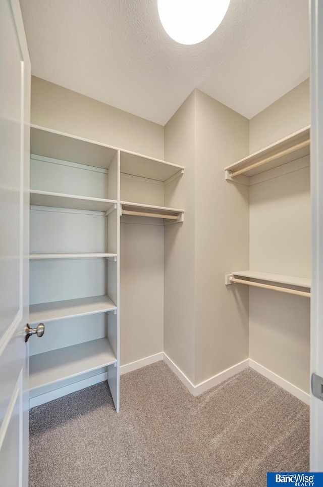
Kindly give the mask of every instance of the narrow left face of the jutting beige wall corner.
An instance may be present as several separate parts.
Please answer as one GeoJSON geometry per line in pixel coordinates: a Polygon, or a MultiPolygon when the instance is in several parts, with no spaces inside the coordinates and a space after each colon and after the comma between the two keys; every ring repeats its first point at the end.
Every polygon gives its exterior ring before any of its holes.
{"type": "Polygon", "coordinates": [[[185,166],[165,186],[165,204],[185,209],[185,221],[165,227],[164,351],[194,382],[195,370],[195,96],[165,126],[165,159],[185,166]]]}

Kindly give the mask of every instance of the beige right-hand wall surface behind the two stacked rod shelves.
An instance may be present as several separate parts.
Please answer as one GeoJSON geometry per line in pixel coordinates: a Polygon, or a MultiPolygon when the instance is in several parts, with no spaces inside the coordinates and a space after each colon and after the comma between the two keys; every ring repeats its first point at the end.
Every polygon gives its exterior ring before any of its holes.
{"type": "MultiPolygon", "coordinates": [[[[250,153],[309,125],[308,80],[250,120],[250,153]]],[[[250,269],[310,277],[309,168],[250,186],[250,269]]],[[[309,300],[250,289],[250,358],[309,392],[309,300]]]]}

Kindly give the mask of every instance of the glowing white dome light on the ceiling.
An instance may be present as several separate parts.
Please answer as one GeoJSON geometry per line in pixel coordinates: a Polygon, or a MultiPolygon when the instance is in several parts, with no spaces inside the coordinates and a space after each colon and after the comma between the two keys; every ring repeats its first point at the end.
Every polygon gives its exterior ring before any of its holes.
{"type": "Polygon", "coordinates": [[[216,30],[230,0],[157,0],[161,24],[180,44],[197,44],[216,30]]]}

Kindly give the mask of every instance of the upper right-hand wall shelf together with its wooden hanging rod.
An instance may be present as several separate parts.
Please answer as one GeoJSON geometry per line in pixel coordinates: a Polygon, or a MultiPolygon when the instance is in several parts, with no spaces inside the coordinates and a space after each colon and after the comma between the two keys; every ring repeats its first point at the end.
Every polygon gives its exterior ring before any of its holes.
{"type": "Polygon", "coordinates": [[[227,166],[227,179],[235,180],[239,175],[252,177],[288,162],[309,155],[310,127],[306,127],[265,149],[255,152],[240,161],[227,166]],[[254,167],[255,165],[256,167],[254,167]]]}

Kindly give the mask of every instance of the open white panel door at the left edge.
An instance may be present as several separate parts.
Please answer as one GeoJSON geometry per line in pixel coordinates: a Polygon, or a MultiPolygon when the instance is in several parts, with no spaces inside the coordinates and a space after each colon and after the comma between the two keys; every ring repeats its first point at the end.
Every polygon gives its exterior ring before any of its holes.
{"type": "Polygon", "coordinates": [[[28,485],[30,61],[19,0],[0,0],[0,484],[28,485]]]}

